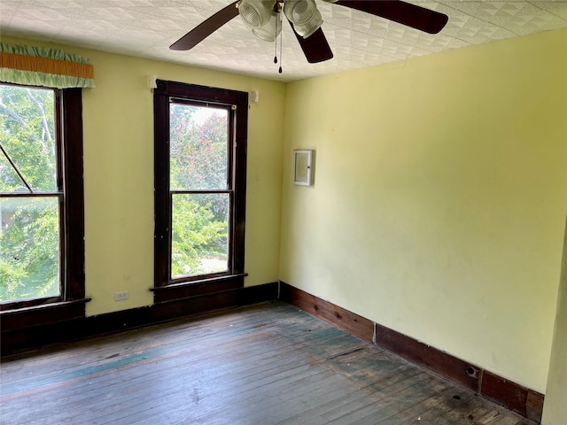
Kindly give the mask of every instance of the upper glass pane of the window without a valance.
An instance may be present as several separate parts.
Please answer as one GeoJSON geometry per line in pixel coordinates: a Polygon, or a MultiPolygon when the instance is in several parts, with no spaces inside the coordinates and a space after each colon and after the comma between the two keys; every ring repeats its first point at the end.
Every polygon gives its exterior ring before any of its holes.
{"type": "Polygon", "coordinates": [[[227,189],[226,109],[170,105],[171,189],[227,189]]]}

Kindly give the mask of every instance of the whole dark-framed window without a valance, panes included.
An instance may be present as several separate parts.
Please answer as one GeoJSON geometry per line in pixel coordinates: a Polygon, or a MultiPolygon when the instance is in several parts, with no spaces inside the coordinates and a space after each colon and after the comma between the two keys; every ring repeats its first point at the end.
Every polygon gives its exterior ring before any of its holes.
{"type": "Polygon", "coordinates": [[[157,86],[156,296],[181,284],[242,286],[248,95],[172,81],[157,86]]]}

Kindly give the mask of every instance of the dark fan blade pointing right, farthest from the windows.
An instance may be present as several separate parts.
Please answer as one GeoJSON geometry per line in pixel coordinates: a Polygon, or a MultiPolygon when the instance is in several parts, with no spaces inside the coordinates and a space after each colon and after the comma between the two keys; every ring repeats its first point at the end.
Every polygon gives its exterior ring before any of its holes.
{"type": "Polygon", "coordinates": [[[390,19],[429,34],[439,33],[449,19],[444,13],[400,0],[338,0],[335,4],[390,19]]]}

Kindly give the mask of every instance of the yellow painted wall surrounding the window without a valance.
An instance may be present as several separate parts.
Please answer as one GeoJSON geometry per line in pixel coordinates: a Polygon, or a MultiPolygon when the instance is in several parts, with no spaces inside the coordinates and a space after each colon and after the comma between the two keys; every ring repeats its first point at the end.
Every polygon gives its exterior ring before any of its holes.
{"type": "Polygon", "coordinates": [[[83,90],[85,274],[86,292],[92,297],[87,314],[152,303],[153,103],[146,85],[148,74],[162,80],[260,91],[260,103],[251,104],[248,115],[245,271],[249,276],[245,285],[277,281],[285,85],[56,47],[90,58],[96,74],[97,87],[83,90]],[[129,299],[114,301],[116,291],[128,291],[129,299]]]}

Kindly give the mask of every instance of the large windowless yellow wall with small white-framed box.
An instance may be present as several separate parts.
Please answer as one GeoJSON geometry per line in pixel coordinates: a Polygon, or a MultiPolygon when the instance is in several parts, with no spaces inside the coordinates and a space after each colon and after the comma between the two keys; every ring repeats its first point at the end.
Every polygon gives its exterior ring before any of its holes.
{"type": "Polygon", "coordinates": [[[289,84],[281,280],[545,392],[566,51],[555,31],[289,84]]]}

